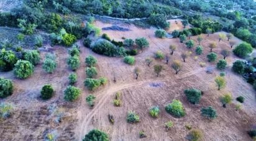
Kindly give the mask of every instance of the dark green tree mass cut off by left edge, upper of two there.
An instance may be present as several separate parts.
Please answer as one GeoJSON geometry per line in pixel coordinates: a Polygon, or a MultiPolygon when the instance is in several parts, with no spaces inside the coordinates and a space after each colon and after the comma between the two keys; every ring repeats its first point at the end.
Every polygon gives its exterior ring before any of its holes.
{"type": "Polygon", "coordinates": [[[0,53],[0,71],[12,70],[17,60],[16,55],[11,50],[6,51],[3,48],[0,53]]]}

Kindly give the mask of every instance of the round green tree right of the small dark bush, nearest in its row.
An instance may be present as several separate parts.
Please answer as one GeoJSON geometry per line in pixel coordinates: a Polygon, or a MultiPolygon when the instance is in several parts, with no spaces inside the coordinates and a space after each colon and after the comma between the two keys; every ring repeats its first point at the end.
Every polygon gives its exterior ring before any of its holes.
{"type": "Polygon", "coordinates": [[[68,86],[64,91],[66,101],[75,101],[81,94],[81,90],[75,86],[68,86]]]}

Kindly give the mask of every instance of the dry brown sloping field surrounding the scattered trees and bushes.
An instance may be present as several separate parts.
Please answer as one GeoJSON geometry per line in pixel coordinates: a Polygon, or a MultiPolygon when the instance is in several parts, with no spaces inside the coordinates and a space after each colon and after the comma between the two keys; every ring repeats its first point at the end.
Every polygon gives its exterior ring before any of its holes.
{"type": "MultiPolygon", "coordinates": [[[[175,24],[173,20],[171,23],[175,24]]],[[[168,31],[182,29],[180,21],[177,25],[171,24],[168,31]]],[[[97,27],[109,27],[112,24],[106,24],[96,21],[97,27]]],[[[191,125],[193,129],[203,130],[203,140],[250,140],[246,130],[256,121],[256,102],[255,91],[250,84],[246,83],[241,76],[235,75],[231,71],[232,62],[239,58],[231,55],[227,57],[229,67],[225,70],[227,86],[221,91],[217,90],[214,77],[219,75],[221,71],[214,66],[216,62],[209,63],[206,55],[210,52],[208,47],[210,42],[217,42],[217,48],[213,52],[217,53],[218,60],[222,58],[220,52],[223,48],[231,50],[227,40],[218,42],[218,33],[211,34],[209,37],[203,35],[204,40],[201,45],[204,47],[202,55],[194,53],[195,47],[186,48],[179,39],[158,39],[155,37],[155,28],[140,29],[134,25],[118,24],[121,27],[127,27],[130,31],[120,32],[114,30],[103,30],[114,40],[136,39],[137,37],[145,37],[149,40],[150,47],[146,48],[139,55],[135,56],[135,65],[129,66],[123,62],[122,58],[104,57],[93,53],[83,46],[82,41],[78,41],[80,45],[80,68],[76,70],[78,74],[78,86],[81,90],[81,96],[78,101],[65,102],[63,99],[63,91],[68,86],[68,74],[71,70],[66,65],[68,58],[68,50],[65,47],[53,47],[53,51],[57,55],[58,67],[53,74],[47,74],[42,70],[42,62],[35,67],[34,75],[26,80],[18,80],[14,78],[13,72],[0,73],[0,76],[14,81],[14,94],[1,101],[11,102],[15,105],[13,116],[5,121],[0,121],[0,140],[42,140],[47,130],[55,129],[58,132],[58,140],[82,140],[84,135],[91,129],[104,130],[111,140],[139,140],[139,132],[144,130],[147,138],[142,140],[186,140],[186,136],[190,130],[185,125],[191,125]],[[176,45],[178,48],[173,55],[170,55],[168,65],[165,61],[154,60],[152,66],[147,66],[145,58],[153,57],[157,50],[170,54],[169,46],[176,45]],[[183,68],[175,75],[175,71],[170,67],[173,60],[181,60],[181,53],[191,51],[191,57],[182,62],[183,68]],[[108,83],[106,86],[100,87],[95,91],[88,91],[83,85],[86,78],[85,75],[85,58],[94,55],[98,59],[98,76],[106,76],[108,83]],[[198,56],[198,59],[194,57],[198,56]],[[199,62],[205,62],[206,66],[201,67],[199,62]],[[164,70],[157,77],[153,71],[153,65],[161,64],[164,70]],[[134,68],[140,68],[139,79],[135,80],[134,68]],[[206,73],[208,67],[214,68],[212,74],[206,73]],[[114,83],[114,75],[117,82],[114,83]],[[44,84],[52,84],[55,89],[55,95],[49,101],[42,101],[40,89],[44,84]],[[185,94],[186,88],[201,89],[204,94],[201,101],[197,105],[190,104],[185,94]],[[122,106],[114,107],[112,101],[117,92],[121,92],[122,106]],[[219,97],[222,94],[232,93],[234,100],[232,104],[226,108],[222,107],[219,97]],[[88,94],[96,96],[96,104],[90,109],[85,102],[88,94]],[[235,98],[244,96],[245,102],[242,109],[235,111],[235,98]],[[186,116],[180,119],[175,118],[165,111],[165,106],[179,99],[185,106],[186,116]],[[50,113],[47,107],[56,103],[58,107],[63,109],[65,117],[59,124],[54,122],[55,116],[50,113]],[[160,107],[160,116],[153,119],[149,115],[149,109],[152,106],[160,107]],[[217,110],[218,117],[209,121],[201,116],[200,109],[205,106],[213,106],[217,110]],[[126,115],[129,111],[135,111],[140,116],[140,122],[137,124],[128,124],[126,115]],[[115,123],[112,125],[107,117],[112,114],[115,117],[115,123]],[[165,130],[164,123],[173,121],[174,126],[170,130],[165,130]]],[[[197,37],[191,37],[195,40],[197,37]]],[[[240,42],[238,39],[237,43],[240,42]]],[[[197,45],[198,43],[196,43],[197,45]]],[[[41,53],[42,60],[45,52],[41,53]]],[[[42,61],[41,60],[41,61],[42,61]]]]}

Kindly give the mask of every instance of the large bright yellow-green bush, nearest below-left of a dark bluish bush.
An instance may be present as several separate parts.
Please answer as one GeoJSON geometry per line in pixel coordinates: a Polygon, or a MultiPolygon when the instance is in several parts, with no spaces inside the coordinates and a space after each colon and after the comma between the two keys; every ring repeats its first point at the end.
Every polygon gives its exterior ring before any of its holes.
{"type": "Polygon", "coordinates": [[[185,109],[183,107],[183,104],[179,101],[179,100],[176,100],[176,99],[173,99],[173,102],[171,102],[170,104],[168,104],[166,107],[165,107],[165,110],[175,116],[175,117],[183,117],[185,116],[185,109]]]}

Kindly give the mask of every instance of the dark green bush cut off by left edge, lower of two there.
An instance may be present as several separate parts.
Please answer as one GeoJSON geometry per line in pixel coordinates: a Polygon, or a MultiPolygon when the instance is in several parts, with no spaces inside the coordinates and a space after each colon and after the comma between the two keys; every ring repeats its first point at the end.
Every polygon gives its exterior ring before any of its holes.
{"type": "Polygon", "coordinates": [[[0,98],[11,96],[13,92],[13,84],[11,80],[0,78],[0,98]]]}

